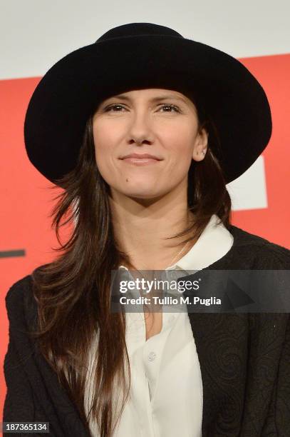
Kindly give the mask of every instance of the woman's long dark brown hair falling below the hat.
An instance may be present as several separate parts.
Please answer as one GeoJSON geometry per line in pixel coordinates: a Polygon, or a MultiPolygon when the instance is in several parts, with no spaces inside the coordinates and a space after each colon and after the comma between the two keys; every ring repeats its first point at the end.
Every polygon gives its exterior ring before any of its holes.
{"type": "MultiPolygon", "coordinates": [[[[209,144],[204,160],[192,161],[188,174],[188,209],[194,223],[170,238],[198,238],[212,214],[229,228],[231,200],[214,151],[220,147],[214,122],[197,108],[199,129],[207,130],[209,144]]],[[[125,343],[125,313],[110,309],[111,271],[130,258],[114,238],[108,200],[110,187],[95,163],[93,114],[88,119],[76,168],[57,181],[63,188],[51,213],[59,247],[55,260],[32,273],[38,304],[38,330],[33,338],[43,357],[56,371],[58,381],[76,405],[89,431],[84,407],[89,351],[93,338],[95,366],[92,418],[101,437],[113,435],[115,381],[123,387],[123,411],[130,390],[130,364],[125,343]],[[71,223],[73,231],[61,243],[60,228],[71,223]],[[127,369],[127,370],[126,370],[127,369]]],[[[53,186],[56,188],[56,186],[53,186]]]]}

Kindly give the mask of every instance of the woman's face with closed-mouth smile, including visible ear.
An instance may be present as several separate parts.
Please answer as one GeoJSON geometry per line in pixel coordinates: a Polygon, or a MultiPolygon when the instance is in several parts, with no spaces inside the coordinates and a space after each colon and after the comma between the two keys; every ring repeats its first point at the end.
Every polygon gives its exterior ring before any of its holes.
{"type": "Polygon", "coordinates": [[[197,132],[197,111],[185,95],[138,89],[105,99],[93,116],[95,161],[113,191],[149,199],[184,184],[192,159],[201,161],[207,134],[197,132]],[[150,154],[141,163],[124,159],[150,154]]]}

